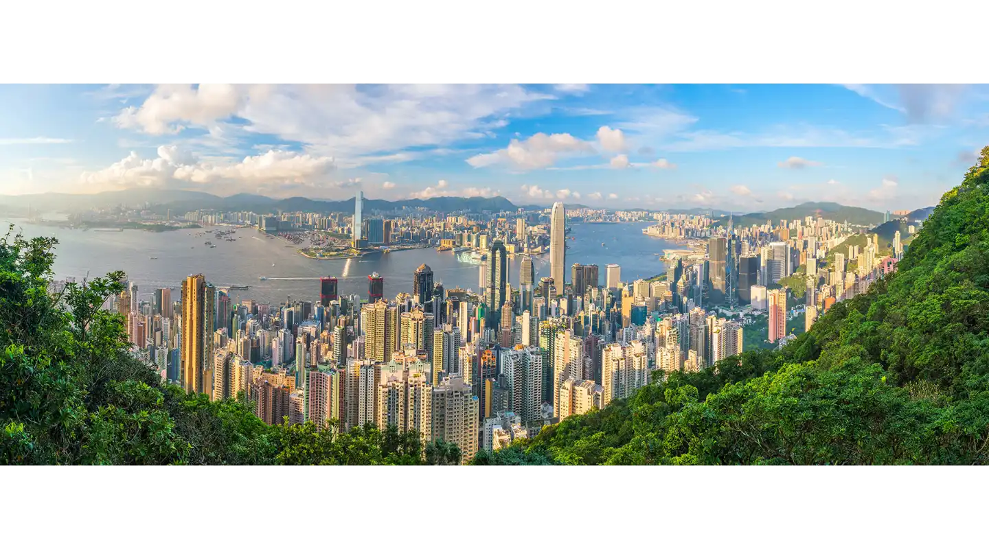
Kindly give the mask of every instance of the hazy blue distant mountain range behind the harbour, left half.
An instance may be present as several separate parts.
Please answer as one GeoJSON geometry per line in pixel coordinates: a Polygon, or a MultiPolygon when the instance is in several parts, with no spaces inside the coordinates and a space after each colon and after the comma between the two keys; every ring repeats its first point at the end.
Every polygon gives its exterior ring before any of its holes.
{"type": "MultiPolygon", "coordinates": [[[[195,191],[167,191],[160,189],[129,189],[126,191],[111,191],[95,195],[68,195],[64,193],[45,193],[43,195],[2,196],[2,202],[8,208],[27,208],[29,205],[37,211],[75,211],[92,207],[110,207],[125,204],[129,206],[150,203],[151,209],[161,211],[170,209],[173,214],[181,214],[194,209],[219,210],[249,210],[258,213],[278,211],[312,211],[315,213],[330,213],[334,211],[347,212],[354,210],[354,198],[346,200],[318,200],[295,196],[292,198],[271,198],[249,194],[233,196],[215,196],[195,191]]],[[[502,211],[516,209],[518,206],[503,196],[485,198],[473,196],[435,196],[426,199],[407,200],[364,200],[364,210],[393,210],[402,208],[425,207],[436,211],[502,211]]]]}

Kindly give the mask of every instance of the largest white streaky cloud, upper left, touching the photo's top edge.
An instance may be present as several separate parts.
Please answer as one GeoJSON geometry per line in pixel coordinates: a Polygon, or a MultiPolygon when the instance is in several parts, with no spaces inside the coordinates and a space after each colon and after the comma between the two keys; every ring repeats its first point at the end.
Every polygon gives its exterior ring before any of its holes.
{"type": "Polygon", "coordinates": [[[243,118],[245,131],[297,141],[341,163],[368,163],[483,137],[516,110],[549,99],[517,84],[162,84],[115,121],[162,134],[243,118]]]}

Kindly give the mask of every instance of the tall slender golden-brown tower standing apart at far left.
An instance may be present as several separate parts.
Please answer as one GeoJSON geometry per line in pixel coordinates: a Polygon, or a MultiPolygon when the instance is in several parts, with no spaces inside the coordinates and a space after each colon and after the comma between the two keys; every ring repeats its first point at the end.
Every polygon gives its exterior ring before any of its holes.
{"type": "Polygon", "coordinates": [[[203,274],[182,283],[182,387],[187,393],[213,393],[213,319],[216,288],[203,274]]]}

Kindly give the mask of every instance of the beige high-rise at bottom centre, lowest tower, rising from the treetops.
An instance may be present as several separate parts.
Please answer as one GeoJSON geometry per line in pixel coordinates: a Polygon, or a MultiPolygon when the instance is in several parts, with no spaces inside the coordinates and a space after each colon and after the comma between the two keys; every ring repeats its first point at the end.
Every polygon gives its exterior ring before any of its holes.
{"type": "Polygon", "coordinates": [[[479,407],[471,385],[459,375],[447,377],[432,388],[431,438],[457,444],[463,465],[478,451],[479,407]]]}

